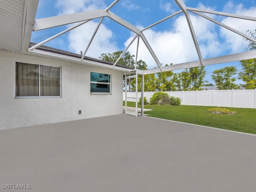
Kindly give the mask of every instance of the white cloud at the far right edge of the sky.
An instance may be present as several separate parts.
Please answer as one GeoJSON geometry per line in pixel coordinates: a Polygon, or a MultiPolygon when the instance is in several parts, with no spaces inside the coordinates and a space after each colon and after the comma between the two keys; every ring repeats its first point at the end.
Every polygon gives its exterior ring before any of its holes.
{"type": "MultiPolygon", "coordinates": [[[[224,12],[256,17],[256,7],[250,7],[249,9],[246,9],[242,4],[234,5],[232,2],[228,2],[225,5],[224,12]]],[[[256,24],[255,21],[230,17],[224,18],[221,22],[244,34],[246,34],[246,30],[254,30],[256,24]]],[[[221,27],[220,34],[223,38],[226,39],[227,47],[232,50],[232,53],[242,52],[244,51],[244,48],[248,46],[248,42],[246,42],[242,36],[235,34],[230,30],[221,27]]]]}

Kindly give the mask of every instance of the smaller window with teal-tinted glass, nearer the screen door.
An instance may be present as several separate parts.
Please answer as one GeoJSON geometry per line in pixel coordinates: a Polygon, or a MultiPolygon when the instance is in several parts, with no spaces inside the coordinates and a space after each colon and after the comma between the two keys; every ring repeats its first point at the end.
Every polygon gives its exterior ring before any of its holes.
{"type": "Polygon", "coordinates": [[[91,93],[110,93],[110,75],[91,72],[91,93]]]}

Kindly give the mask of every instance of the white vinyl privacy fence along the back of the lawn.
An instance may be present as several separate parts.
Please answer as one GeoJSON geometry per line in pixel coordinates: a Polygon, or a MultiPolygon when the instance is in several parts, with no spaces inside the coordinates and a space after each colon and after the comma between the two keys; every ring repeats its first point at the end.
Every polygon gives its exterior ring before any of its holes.
{"type": "MultiPolygon", "coordinates": [[[[256,108],[255,90],[204,90],[204,91],[170,91],[170,96],[182,99],[182,105],[222,106],[237,108],[256,108]]],[[[144,97],[149,101],[154,92],[144,92],[144,97]]],[[[135,92],[127,92],[128,97],[135,97],[135,92]]],[[[141,92],[138,92],[138,98],[141,92]]],[[[125,100],[125,92],[123,92],[125,100]]],[[[139,100],[139,99],[138,99],[139,100]]],[[[133,101],[134,99],[127,99],[133,101]]]]}

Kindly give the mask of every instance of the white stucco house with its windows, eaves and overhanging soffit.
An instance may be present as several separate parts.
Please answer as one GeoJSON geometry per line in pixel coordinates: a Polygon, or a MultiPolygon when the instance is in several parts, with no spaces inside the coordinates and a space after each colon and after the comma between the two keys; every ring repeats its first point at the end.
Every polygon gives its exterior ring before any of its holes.
{"type": "Polygon", "coordinates": [[[1,0],[0,130],[121,114],[130,69],[47,46],[30,51],[37,5],[1,0]]]}

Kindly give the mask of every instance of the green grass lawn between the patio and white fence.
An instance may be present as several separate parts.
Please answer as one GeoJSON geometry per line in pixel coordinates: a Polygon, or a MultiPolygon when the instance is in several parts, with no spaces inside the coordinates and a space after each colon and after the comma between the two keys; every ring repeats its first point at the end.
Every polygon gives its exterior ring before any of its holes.
{"type": "MultiPolygon", "coordinates": [[[[127,105],[135,107],[135,102],[128,102],[127,105]]],[[[212,106],[144,106],[147,109],[152,107],[153,111],[147,111],[144,114],[149,114],[150,117],[256,134],[256,109],[226,107],[236,111],[237,114],[223,115],[207,112],[208,109],[214,108],[212,106]]]]}

